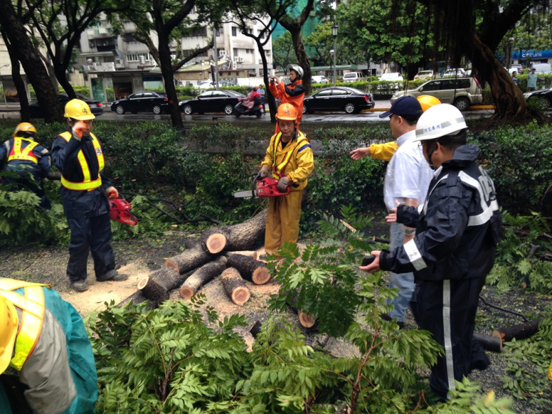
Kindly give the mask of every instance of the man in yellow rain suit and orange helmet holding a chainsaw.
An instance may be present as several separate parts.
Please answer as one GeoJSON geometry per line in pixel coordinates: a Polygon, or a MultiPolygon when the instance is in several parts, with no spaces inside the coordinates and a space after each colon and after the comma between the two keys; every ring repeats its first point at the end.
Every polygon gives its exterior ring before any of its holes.
{"type": "Polygon", "coordinates": [[[297,112],[291,103],[282,103],[276,114],[279,132],[270,138],[266,156],[261,163],[260,177],[272,175],[279,179],[278,190],[288,195],[270,197],[264,249],[274,254],[285,242],[297,243],[301,201],[307,177],[314,170],[311,144],[297,128],[297,112]]]}

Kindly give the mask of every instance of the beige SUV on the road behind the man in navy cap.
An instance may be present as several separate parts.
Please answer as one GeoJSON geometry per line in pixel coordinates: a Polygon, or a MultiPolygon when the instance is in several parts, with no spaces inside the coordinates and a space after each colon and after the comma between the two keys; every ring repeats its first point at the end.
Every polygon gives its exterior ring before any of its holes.
{"type": "Polygon", "coordinates": [[[460,110],[466,110],[469,106],[483,101],[479,82],[473,77],[468,77],[434,79],[411,90],[400,90],[391,97],[391,103],[393,104],[397,98],[402,96],[418,97],[420,95],[431,95],[440,99],[442,103],[452,103],[460,110]]]}

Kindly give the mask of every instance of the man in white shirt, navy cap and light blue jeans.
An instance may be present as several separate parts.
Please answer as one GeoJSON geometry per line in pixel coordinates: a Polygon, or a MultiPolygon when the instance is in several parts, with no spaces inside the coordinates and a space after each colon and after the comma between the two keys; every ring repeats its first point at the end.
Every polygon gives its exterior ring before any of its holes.
{"type": "MultiPolygon", "coordinates": [[[[400,97],[393,103],[390,110],[380,115],[380,118],[389,117],[391,132],[399,146],[389,161],[385,174],[384,202],[388,211],[396,208],[397,204],[417,207],[423,204],[426,198],[433,172],[424,158],[422,148],[418,146],[417,141],[414,141],[416,123],[420,115],[422,115],[422,106],[414,97],[400,97]]],[[[414,236],[414,228],[391,223],[390,250],[402,246],[414,236]]],[[[393,311],[388,316],[396,319],[397,324],[402,328],[406,308],[414,291],[414,274],[390,273],[389,286],[398,289],[399,295],[393,299],[393,311]]]]}

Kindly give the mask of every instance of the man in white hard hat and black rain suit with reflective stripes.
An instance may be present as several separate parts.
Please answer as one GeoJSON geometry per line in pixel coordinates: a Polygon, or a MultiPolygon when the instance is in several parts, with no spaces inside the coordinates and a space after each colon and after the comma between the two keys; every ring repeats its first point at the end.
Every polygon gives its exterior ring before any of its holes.
{"type": "Polygon", "coordinates": [[[401,204],[387,217],[415,227],[416,236],[393,252],[373,251],[374,262],[361,267],[369,273],[414,271],[416,322],[444,349],[429,380],[440,400],[471,368],[486,367],[477,366],[482,355],[474,355],[473,328],[478,297],[502,238],[493,180],[475,161],[480,149],[466,145],[466,128],[462,113],[449,104],[433,106],[420,117],[416,136],[435,169],[426,201],[419,209],[401,204]]]}

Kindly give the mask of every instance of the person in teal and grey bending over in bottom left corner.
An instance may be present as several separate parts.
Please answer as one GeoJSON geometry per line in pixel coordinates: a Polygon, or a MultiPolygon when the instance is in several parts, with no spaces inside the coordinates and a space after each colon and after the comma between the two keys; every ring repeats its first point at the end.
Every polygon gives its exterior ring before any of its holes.
{"type": "Polygon", "coordinates": [[[48,285],[0,278],[0,413],[95,413],[97,382],[75,308],[48,285]]]}

